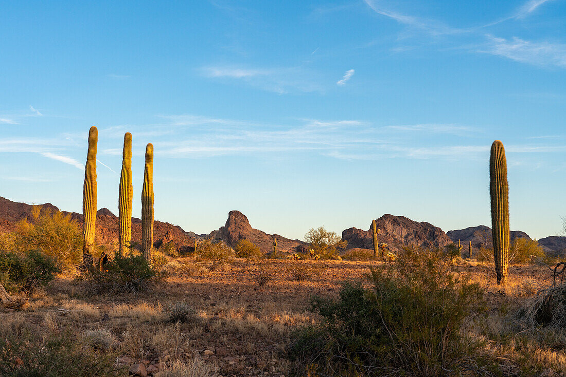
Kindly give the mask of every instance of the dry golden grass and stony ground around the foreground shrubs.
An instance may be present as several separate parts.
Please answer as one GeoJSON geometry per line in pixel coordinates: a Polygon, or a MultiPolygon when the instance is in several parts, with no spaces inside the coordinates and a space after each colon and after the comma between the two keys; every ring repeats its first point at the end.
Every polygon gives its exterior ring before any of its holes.
{"type": "MultiPolygon", "coordinates": [[[[342,281],[363,278],[380,263],[271,261],[271,281],[259,288],[253,281],[254,263],[238,259],[208,271],[179,257],[166,265],[172,273],[163,287],[136,296],[77,298],[80,292],[63,277],[36,293],[27,311],[0,312],[0,335],[31,324],[47,333],[71,331],[89,347],[158,363],[160,377],[288,376],[290,363],[282,351],[291,334],[318,320],[306,311],[311,295],[336,296],[342,281]],[[307,277],[293,281],[297,270],[307,277]],[[196,319],[168,323],[164,308],[182,301],[194,307],[196,319]],[[108,319],[102,320],[105,313],[108,319]]],[[[566,371],[566,335],[552,329],[525,331],[515,318],[522,305],[550,285],[547,270],[512,266],[504,287],[495,284],[481,263],[461,261],[460,270],[488,292],[484,324],[470,322],[463,329],[470,340],[483,342],[486,358],[499,360],[508,374],[566,371]]]]}

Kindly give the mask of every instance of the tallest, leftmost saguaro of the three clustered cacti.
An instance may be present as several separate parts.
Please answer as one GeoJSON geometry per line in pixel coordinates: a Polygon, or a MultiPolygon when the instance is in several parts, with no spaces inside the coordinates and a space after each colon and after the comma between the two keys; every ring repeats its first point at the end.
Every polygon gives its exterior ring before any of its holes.
{"type": "Polygon", "coordinates": [[[93,265],[96,232],[96,144],[98,129],[92,126],[88,132],[87,164],[84,168],[83,185],[83,265],[93,265]]]}

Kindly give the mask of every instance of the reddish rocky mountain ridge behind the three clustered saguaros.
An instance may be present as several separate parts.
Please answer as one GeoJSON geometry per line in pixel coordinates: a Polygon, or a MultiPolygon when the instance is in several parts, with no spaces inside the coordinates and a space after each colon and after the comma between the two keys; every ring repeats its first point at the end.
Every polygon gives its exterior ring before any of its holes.
{"type": "MultiPolygon", "coordinates": [[[[41,205],[42,210],[59,209],[51,203],[41,205]]],[[[15,224],[22,219],[31,219],[32,206],[26,203],[17,203],[0,197],[0,231],[12,231],[15,224]]],[[[68,212],[63,211],[68,214],[68,212]]],[[[82,227],[83,214],[71,212],[71,218],[79,227],[82,227]]],[[[153,239],[156,246],[160,245],[166,236],[169,241],[178,244],[178,248],[193,247],[194,233],[185,232],[181,227],[173,224],[155,221],[153,223],[153,239]],[[167,235],[167,236],[166,236],[167,235]]],[[[118,240],[118,216],[109,209],[102,208],[96,213],[96,238],[100,244],[114,244],[118,240]]],[[[141,219],[132,218],[132,242],[141,241],[141,219]]]]}

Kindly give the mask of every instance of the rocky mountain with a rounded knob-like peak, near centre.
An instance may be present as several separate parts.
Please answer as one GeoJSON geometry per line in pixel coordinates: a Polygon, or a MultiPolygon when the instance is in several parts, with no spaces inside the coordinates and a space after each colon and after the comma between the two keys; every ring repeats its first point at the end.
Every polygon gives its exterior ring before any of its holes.
{"type": "Polygon", "coordinates": [[[252,228],[247,217],[240,211],[230,211],[225,226],[213,231],[210,236],[215,240],[225,241],[232,247],[239,240],[245,239],[259,246],[263,253],[273,251],[274,240],[277,240],[277,252],[295,252],[298,248],[307,245],[306,242],[300,240],[290,240],[280,235],[268,235],[252,228]]]}

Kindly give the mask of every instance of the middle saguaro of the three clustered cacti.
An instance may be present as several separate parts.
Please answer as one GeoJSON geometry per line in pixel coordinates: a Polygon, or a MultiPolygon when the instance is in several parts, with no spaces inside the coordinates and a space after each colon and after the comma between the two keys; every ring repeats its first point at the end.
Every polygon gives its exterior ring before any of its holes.
{"type": "Polygon", "coordinates": [[[118,255],[130,248],[132,239],[132,134],[124,135],[122,152],[122,172],[120,173],[120,192],[118,196],[118,255]]]}

